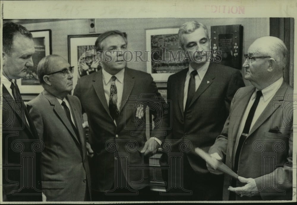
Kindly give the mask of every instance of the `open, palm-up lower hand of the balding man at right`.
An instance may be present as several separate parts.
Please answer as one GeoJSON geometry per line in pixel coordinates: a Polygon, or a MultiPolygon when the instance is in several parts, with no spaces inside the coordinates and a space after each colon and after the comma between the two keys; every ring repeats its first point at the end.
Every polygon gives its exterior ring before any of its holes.
{"type": "Polygon", "coordinates": [[[228,188],[229,191],[233,191],[239,196],[252,196],[254,191],[258,191],[257,184],[254,179],[238,177],[238,180],[242,183],[247,183],[247,184],[242,187],[236,187],[236,188],[229,186],[228,188]]]}

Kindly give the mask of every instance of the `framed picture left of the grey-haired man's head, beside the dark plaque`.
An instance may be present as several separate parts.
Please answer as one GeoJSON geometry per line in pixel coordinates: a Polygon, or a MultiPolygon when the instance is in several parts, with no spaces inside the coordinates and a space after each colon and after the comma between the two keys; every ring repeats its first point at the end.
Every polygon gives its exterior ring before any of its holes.
{"type": "Polygon", "coordinates": [[[151,56],[150,61],[146,62],[146,71],[156,82],[167,82],[170,75],[188,67],[179,47],[178,29],[146,29],[146,50],[151,56]]]}

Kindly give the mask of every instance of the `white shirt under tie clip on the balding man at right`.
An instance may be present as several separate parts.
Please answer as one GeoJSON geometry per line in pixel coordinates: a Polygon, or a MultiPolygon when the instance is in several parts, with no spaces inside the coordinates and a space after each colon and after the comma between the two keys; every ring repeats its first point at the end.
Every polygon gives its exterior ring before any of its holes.
{"type": "MultiPolygon", "coordinates": [[[[263,110],[266,108],[266,106],[271,101],[271,99],[273,98],[273,96],[275,95],[277,90],[282,85],[283,80],[284,80],[283,78],[279,78],[277,81],[275,81],[274,83],[272,83],[271,85],[269,85],[268,87],[266,87],[262,90],[263,95],[260,97],[259,104],[255,110],[255,114],[254,114],[254,117],[253,117],[253,120],[251,123],[251,127],[249,130],[251,130],[253,125],[255,125],[255,122],[260,117],[263,110]]],[[[249,115],[249,111],[250,111],[253,103],[255,102],[255,99],[257,96],[257,94],[256,94],[257,91],[258,91],[258,89],[255,89],[254,93],[251,96],[251,99],[249,100],[249,104],[247,105],[247,108],[245,109],[244,115],[241,119],[241,123],[238,128],[237,138],[239,138],[241,136],[241,133],[244,129],[244,125],[245,125],[245,122],[247,121],[247,116],[249,115]]],[[[248,133],[246,133],[246,134],[248,134],[248,133]]]]}

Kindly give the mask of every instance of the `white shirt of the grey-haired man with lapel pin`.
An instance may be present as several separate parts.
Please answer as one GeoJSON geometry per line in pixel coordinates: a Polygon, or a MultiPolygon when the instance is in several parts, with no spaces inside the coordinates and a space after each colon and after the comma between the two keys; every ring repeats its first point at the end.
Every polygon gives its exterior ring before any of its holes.
{"type": "MultiPolygon", "coordinates": [[[[202,67],[200,67],[197,70],[197,75],[195,75],[195,92],[197,91],[199,85],[201,84],[201,81],[206,73],[206,71],[208,70],[208,66],[209,66],[209,62],[206,62],[202,67]]],[[[190,73],[193,71],[194,69],[191,67],[191,64],[189,64],[189,71],[187,72],[186,75],[186,81],[185,81],[185,86],[184,86],[184,110],[186,107],[186,102],[187,102],[187,97],[188,97],[188,87],[189,87],[189,81],[190,81],[190,73]]]]}

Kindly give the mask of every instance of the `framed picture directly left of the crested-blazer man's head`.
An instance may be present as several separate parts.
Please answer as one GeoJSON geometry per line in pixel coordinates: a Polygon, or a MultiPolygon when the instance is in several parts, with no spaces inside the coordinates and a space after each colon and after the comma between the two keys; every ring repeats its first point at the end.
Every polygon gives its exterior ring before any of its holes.
{"type": "MultiPolygon", "coordinates": [[[[68,35],[67,42],[68,42],[68,62],[71,66],[74,66],[73,72],[73,89],[77,84],[78,78],[83,75],[89,75],[91,72],[96,72],[101,69],[101,66],[91,67],[92,62],[86,64],[83,62],[82,58],[86,52],[91,52],[92,47],[95,46],[95,41],[97,40],[100,33],[95,34],[85,34],[85,35],[68,35]],[[88,48],[87,50],[84,48],[88,48]],[[87,70],[84,70],[82,67],[88,66],[87,70]]],[[[93,53],[95,54],[95,53],[93,53]]],[[[87,55],[87,58],[93,59],[93,55],[87,55]]],[[[94,56],[96,59],[96,55],[94,56]]]]}

